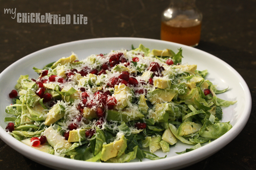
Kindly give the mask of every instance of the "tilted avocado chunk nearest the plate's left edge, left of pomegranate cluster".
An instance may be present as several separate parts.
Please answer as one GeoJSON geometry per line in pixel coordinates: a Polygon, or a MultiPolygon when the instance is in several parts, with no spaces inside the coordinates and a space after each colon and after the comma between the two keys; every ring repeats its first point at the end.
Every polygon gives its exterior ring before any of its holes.
{"type": "Polygon", "coordinates": [[[64,114],[65,114],[65,108],[61,104],[57,103],[47,113],[47,118],[44,124],[47,126],[50,126],[51,124],[61,119],[64,116],[64,114]]]}

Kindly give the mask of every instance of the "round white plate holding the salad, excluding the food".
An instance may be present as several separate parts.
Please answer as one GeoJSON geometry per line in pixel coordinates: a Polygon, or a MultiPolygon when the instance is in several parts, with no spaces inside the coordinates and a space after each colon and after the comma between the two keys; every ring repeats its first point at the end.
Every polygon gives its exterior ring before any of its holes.
{"type": "MultiPolygon", "coordinates": [[[[186,45],[143,38],[99,38],[81,40],[55,45],[29,54],[10,65],[0,74],[0,94],[2,95],[0,98],[0,138],[10,147],[33,161],[54,169],[65,170],[162,170],[186,167],[206,159],[231,142],[244,128],[251,110],[251,96],[247,84],[237,71],[226,62],[204,51],[186,45]],[[175,153],[192,147],[192,145],[179,142],[176,147],[170,148],[171,151],[166,159],[154,161],[145,160],[142,162],[122,164],[78,161],[50,155],[17,141],[4,130],[7,125],[7,123],[4,122],[4,118],[8,115],[5,114],[5,108],[11,103],[8,94],[14,89],[20,75],[29,74],[29,77],[37,78],[37,74],[32,70],[33,66],[42,68],[44,65],[54,62],[61,57],[70,56],[71,51],[76,53],[79,59],[84,59],[90,54],[105,54],[109,53],[111,50],[121,48],[130,50],[131,44],[137,47],[140,43],[151,50],[169,48],[177,52],[177,49],[181,47],[184,57],[182,63],[188,62],[189,64],[197,64],[198,70],[201,71],[207,69],[209,74],[206,79],[218,85],[219,89],[229,86],[230,90],[224,94],[219,94],[218,97],[225,100],[237,100],[235,105],[223,109],[224,114],[222,122],[230,121],[233,128],[219,139],[189,153],[182,155],[175,153]]],[[[156,154],[158,156],[165,156],[161,151],[157,151],[156,154]]]]}

